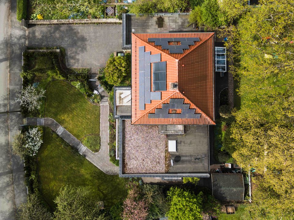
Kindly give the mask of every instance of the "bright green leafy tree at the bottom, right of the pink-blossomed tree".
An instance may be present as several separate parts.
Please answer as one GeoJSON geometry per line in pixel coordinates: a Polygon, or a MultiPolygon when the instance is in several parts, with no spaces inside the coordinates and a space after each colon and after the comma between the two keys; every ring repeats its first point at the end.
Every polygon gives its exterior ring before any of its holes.
{"type": "Polygon", "coordinates": [[[197,196],[188,190],[171,187],[168,191],[170,207],[167,212],[172,220],[201,220],[202,192],[197,196]]]}

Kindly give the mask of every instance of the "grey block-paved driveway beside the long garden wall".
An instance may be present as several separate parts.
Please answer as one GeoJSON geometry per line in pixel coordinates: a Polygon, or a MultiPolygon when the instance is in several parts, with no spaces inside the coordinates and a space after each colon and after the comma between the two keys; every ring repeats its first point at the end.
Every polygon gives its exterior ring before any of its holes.
{"type": "Polygon", "coordinates": [[[104,67],[113,51],[122,49],[121,24],[38,25],[28,29],[28,46],[62,46],[68,67],[104,67]]]}

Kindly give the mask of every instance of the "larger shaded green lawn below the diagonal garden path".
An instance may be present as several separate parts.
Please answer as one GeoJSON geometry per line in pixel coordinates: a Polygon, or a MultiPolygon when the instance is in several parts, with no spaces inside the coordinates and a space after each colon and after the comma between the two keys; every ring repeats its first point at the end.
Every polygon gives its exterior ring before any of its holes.
{"type": "Polygon", "coordinates": [[[59,189],[66,184],[91,187],[106,208],[126,198],[125,178],[103,173],[70,147],[62,146],[53,134],[45,128],[44,143],[38,153],[40,191],[52,210],[59,189]]]}

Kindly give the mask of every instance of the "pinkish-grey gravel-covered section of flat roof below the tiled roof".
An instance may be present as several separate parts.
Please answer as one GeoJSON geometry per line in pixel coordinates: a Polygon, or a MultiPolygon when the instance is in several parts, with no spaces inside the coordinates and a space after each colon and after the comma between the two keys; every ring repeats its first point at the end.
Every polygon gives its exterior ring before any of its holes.
{"type": "Polygon", "coordinates": [[[158,126],[123,120],[123,173],[165,173],[166,135],[158,126]]]}

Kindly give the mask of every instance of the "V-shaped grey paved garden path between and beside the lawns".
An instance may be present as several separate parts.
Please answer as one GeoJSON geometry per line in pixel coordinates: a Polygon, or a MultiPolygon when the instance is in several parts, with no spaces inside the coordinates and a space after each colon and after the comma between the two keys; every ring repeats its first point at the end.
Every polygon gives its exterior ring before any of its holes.
{"type": "Polygon", "coordinates": [[[81,141],[75,138],[67,130],[65,130],[59,123],[51,118],[26,118],[25,124],[34,126],[47,126],[55,131],[63,140],[73,146],[78,152],[85,156],[87,160],[93,163],[101,171],[109,175],[119,174],[119,167],[116,167],[109,161],[108,156],[108,103],[100,106],[100,138],[101,146],[98,153],[93,153],[86,148],[81,141]],[[102,132],[104,131],[104,132],[102,132]]]}

